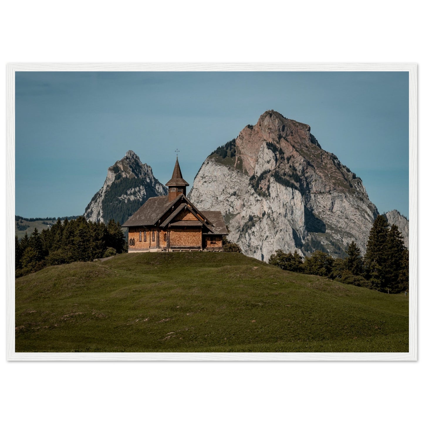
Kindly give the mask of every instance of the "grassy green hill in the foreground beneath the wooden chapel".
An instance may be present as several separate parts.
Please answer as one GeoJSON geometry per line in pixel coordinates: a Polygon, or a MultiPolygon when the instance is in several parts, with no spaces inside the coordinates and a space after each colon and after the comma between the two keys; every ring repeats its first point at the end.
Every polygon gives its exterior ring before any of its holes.
{"type": "Polygon", "coordinates": [[[121,254],[16,280],[17,352],[407,352],[408,298],[237,253],[121,254]]]}

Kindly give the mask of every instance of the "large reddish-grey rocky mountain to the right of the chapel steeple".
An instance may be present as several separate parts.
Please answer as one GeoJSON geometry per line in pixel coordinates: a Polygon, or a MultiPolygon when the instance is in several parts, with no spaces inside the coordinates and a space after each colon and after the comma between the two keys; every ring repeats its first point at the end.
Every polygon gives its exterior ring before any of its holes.
{"type": "Polygon", "coordinates": [[[268,260],[276,249],[365,253],[378,211],[362,181],[324,151],[310,126],[267,111],[205,160],[188,197],[220,210],[229,240],[268,260]]]}

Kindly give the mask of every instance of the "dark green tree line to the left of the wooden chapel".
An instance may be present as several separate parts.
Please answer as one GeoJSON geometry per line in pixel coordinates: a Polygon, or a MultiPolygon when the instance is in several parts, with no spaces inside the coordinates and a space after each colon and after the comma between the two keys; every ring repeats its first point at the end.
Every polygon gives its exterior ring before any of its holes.
{"type": "Polygon", "coordinates": [[[92,261],[126,250],[125,236],[119,222],[92,223],[84,216],[75,220],[60,219],[49,229],[21,240],[15,237],[15,276],[39,271],[48,265],[92,261]]]}

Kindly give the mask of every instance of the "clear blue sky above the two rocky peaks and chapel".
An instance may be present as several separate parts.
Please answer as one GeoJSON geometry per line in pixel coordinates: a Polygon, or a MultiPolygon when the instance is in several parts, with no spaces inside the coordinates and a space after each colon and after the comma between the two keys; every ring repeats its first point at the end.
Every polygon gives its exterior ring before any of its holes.
{"type": "Polygon", "coordinates": [[[178,148],[191,187],[206,156],[274,109],[309,124],[380,213],[409,216],[407,72],[17,72],[15,82],[17,215],[82,214],[128,150],[165,183],[178,148]]]}

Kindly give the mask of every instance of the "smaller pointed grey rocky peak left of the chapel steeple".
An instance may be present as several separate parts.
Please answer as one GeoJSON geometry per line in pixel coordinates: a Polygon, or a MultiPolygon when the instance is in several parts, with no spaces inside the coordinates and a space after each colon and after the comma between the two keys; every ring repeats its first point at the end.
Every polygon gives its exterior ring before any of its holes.
{"type": "Polygon", "coordinates": [[[103,187],[85,208],[84,216],[93,222],[110,219],[124,223],[150,197],[167,194],[167,188],[152,173],[152,168],[129,150],[108,168],[103,187]]]}

